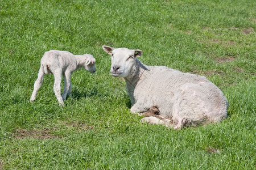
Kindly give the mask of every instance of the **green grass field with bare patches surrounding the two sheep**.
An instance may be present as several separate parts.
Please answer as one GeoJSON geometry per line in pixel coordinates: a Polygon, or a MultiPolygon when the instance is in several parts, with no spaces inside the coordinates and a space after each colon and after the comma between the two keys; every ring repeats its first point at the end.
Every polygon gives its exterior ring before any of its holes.
{"type": "Polygon", "coordinates": [[[256,169],[255,11],[253,0],[0,0],[0,169],[256,169]],[[141,124],[102,45],[207,76],[228,118],[182,130],[141,124]],[[64,108],[52,75],[29,102],[51,49],[96,58],[96,73],[73,73],[64,108]]]}

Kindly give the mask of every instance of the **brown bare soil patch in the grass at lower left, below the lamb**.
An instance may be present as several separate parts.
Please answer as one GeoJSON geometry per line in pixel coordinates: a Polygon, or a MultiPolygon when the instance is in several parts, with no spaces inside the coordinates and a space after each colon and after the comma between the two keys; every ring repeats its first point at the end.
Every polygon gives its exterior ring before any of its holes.
{"type": "Polygon", "coordinates": [[[52,135],[49,129],[43,130],[26,130],[26,129],[17,129],[13,134],[16,139],[24,138],[38,138],[38,139],[55,139],[59,138],[55,135],[52,135]]]}

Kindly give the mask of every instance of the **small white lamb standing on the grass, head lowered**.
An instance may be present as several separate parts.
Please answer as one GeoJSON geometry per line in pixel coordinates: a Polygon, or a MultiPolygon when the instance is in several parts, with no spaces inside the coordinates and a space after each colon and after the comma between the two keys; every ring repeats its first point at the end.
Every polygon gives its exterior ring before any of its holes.
{"type": "Polygon", "coordinates": [[[63,100],[65,100],[68,95],[71,95],[71,74],[73,71],[84,68],[90,73],[94,73],[96,71],[95,62],[96,59],[90,54],[73,55],[70,52],[60,50],[50,50],[44,53],[40,62],[38,79],[35,81],[34,91],[32,92],[30,101],[35,100],[36,94],[42,85],[44,74],[53,74],[55,79],[53,91],[55,92],[59,104],[64,106],[63,100]],[[62,96],[60,95],[61,75],[63,75],[64,78],[62,96]]]}

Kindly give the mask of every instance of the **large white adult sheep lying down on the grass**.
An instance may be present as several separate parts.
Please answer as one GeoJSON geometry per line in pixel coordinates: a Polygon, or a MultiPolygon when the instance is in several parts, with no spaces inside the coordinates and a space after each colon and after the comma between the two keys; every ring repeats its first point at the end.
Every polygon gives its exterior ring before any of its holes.
{"type": "Polygon", "coordinates": [[[144,65],[137,58],[142,50],[102,48],[112,56],[111,74],[126,81],[130,112],[144,115],[142,122],[181,129],[227,117],[228,101],[204,76],[144,65]]]}

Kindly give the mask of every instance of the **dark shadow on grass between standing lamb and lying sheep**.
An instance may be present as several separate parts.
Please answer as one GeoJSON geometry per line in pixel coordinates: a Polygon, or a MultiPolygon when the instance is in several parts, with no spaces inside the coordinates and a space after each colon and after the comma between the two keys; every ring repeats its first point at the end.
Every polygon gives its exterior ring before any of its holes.
{"type": "Polygon", "coordinates": [[[72,98],[76,100],[79,100],[85,97],[93,97],[93,96],[105,97],[106,94],[102,94],[102,92],[98,92],[98,89],[96,87],[82,88],[82,89],[73,88],[72,90],[72,98]]]}

